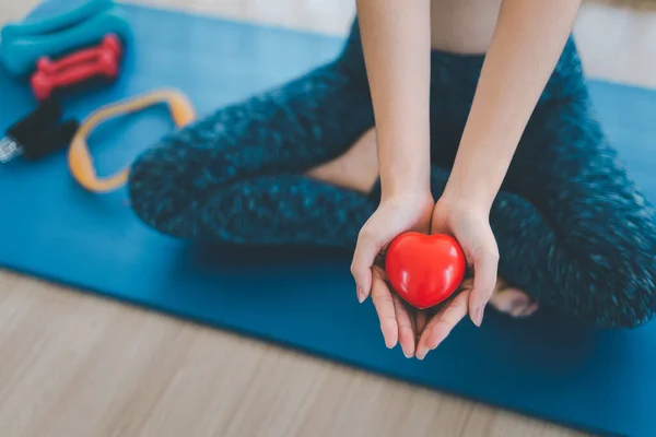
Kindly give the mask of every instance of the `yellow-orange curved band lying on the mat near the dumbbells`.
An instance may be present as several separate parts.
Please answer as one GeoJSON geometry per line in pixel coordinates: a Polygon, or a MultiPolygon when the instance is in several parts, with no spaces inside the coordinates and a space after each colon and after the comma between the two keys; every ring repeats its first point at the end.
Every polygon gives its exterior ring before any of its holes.
{"type": "Polygon", "coordinates": [[[196,111],[189,99],[184,94],[174,90],[155,91],[103,106],[81,123],[80,129],[78,129],[71,141],[68,162],[73,178],[82,187],[94,192],[109,192],[124,186],[128,181],[129,168],[125,168],[113,176],[99,178],[94,167],[86,139],[98,125],[110,118],[137,113],[160,103],[167,104],[177,128],[184,127],[196,119],[196,111]]]}

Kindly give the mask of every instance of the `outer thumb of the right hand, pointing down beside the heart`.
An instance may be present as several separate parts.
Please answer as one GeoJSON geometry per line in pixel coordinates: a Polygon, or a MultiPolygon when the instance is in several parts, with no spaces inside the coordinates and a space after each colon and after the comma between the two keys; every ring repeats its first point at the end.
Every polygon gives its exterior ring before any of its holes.
{"type": "Polygon", "coordinates": [[[477,327],[483,322],[485,305],[496,285],[499,255],[493,250],[480,251],[473,259],[473,290],[469,298],[469,315],[477,327]]]}

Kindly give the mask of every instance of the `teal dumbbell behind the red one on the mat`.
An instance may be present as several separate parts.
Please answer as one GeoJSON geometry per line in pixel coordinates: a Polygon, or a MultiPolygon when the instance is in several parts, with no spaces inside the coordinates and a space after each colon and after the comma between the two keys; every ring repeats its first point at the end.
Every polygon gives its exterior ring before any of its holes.
{"type": "Polygon", "coordinates": [[[14,76],[33,72],[40,57],[56,58],[97,44],[106,34],[125,42],[131,28],[120,7],[112,0],[92,0],[44,20],[4,26],[0,33],[0,62],[14,76]]]}

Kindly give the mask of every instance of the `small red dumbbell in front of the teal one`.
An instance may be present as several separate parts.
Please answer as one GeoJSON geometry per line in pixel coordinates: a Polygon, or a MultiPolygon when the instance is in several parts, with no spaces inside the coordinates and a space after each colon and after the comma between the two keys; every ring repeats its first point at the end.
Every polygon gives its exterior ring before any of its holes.
{"type": "Polygon", "coordinates": [[[92,48],[75,51],[56,61],[43,57],[32,75],[32,91],[37,99],[48,98],[57,88],[68,87],[89,79],[118,75],[122,47],[116,35],[108,34],[92,48]]]}

